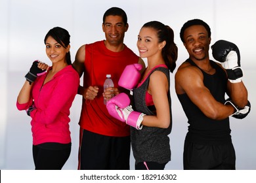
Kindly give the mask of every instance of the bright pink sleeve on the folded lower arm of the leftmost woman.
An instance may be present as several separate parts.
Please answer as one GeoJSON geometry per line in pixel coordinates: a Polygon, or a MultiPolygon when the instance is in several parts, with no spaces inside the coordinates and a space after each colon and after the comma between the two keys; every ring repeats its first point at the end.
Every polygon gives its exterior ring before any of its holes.
{"type": "Polygon", "coordinates": [[[71,107],[75,95],[77,94],[78,86],[79,76],[77,73],[72,73],[72,75],[62,75],[53,90],[49,106],[46,110],[32,110],[30,113],[32,119],[35,120],[35,122],[41,122],[48,125],[56,120],[56,117],[61,111],[68,116],[70,108],[67,109],[66,105],[70,105],[71,107]]]}

